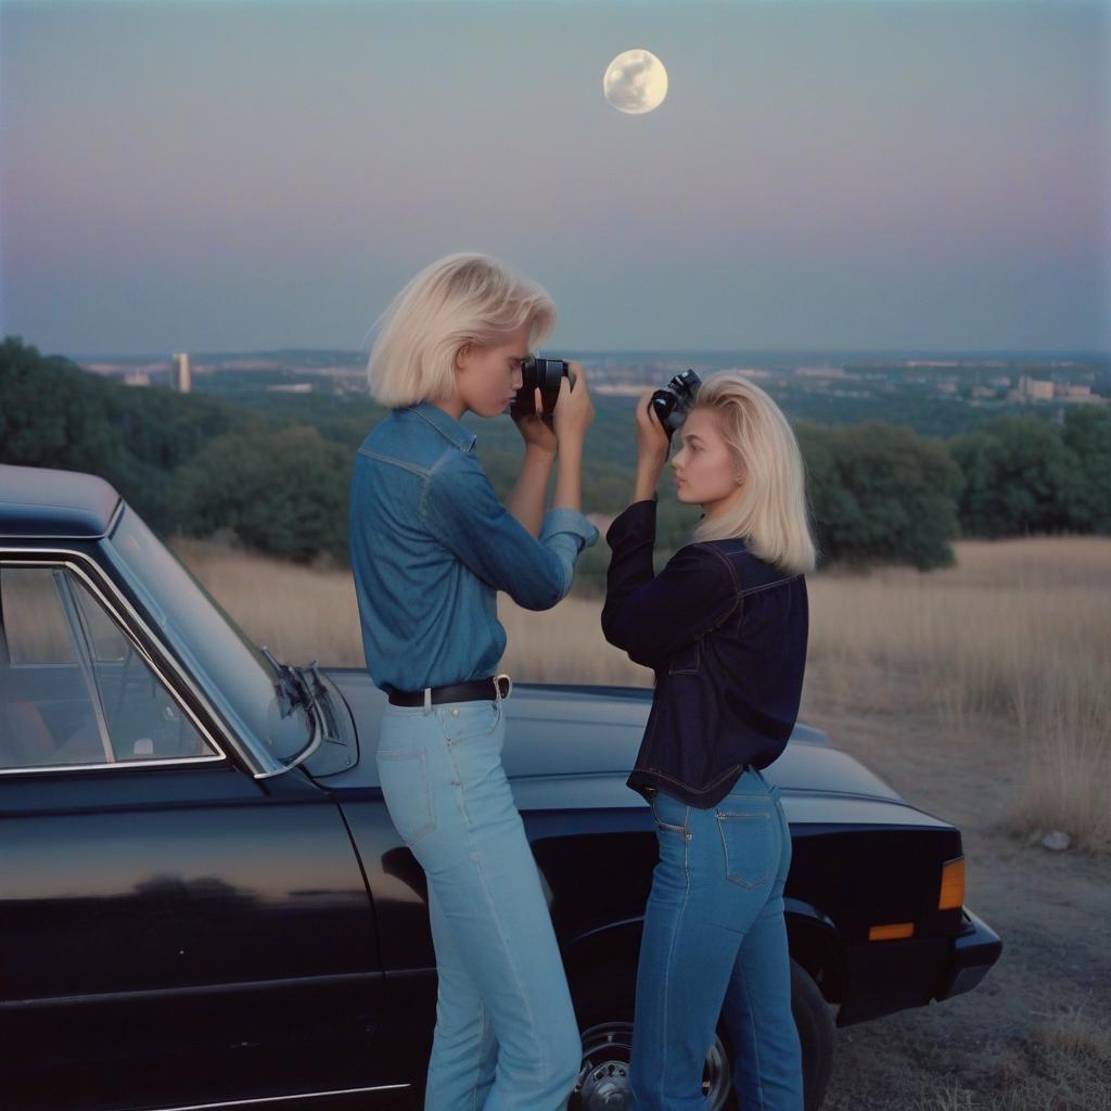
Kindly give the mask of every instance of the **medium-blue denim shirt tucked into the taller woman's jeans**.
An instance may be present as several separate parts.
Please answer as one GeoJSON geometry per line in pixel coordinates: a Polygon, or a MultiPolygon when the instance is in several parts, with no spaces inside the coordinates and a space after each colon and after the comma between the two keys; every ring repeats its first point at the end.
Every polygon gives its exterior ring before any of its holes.
{"type": "Polygon", "coordinates": [[[539,539],[497,499],[476,436],[423,401],[393,409],[356,454],[349,543],[367,670],[382,690],[484,679],[506,650],[497,591],[553,607],[598,529],[550,509],[539,539]]]}

